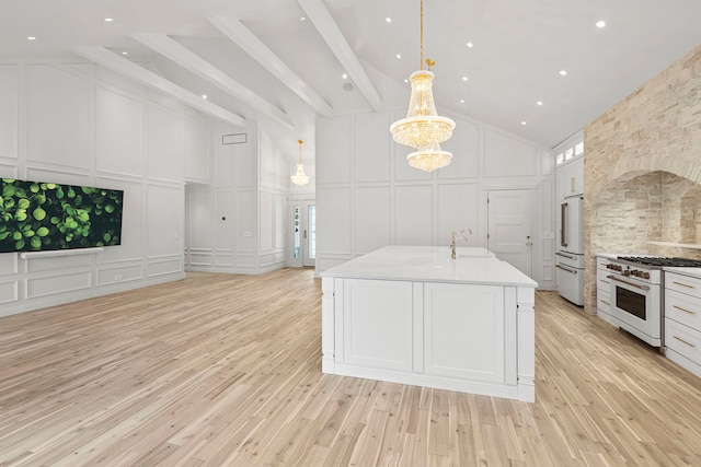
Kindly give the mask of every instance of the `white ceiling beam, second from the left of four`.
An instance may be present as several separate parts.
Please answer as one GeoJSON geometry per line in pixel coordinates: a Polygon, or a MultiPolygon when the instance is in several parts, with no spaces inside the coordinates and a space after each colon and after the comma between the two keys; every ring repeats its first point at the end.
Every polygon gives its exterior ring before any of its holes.
{"type": "Polygon", "coordinates": [[[219,89],[260,112],[263,116],[287,128],[292,128],[292,124],[286,113],[169,36],[164,34],[133,34],[131,37],[197,77],[214,83],[219,89]]]}

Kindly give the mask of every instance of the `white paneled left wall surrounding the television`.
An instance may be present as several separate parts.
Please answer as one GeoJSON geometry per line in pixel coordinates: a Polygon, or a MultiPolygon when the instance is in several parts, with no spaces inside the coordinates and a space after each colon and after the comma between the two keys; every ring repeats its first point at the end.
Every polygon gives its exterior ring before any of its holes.
{"type": "Polygon", "coordinates": [[[183,183],[204,175],[209,127],[94,65],[0,63],[0,176],[124,190],[122,245],[0,254],[0,315],[182,279],[183,183]]]}

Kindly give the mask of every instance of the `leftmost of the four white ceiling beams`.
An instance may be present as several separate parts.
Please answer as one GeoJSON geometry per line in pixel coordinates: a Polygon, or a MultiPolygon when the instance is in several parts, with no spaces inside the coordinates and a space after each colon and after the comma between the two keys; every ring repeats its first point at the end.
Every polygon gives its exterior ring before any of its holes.
{"type": "Polygon", "coordinates": [[[168,94],[193,108],[218,118],[219,120],[235,125],[237,127],[246,126],[245,118],[229,112],[223,107],[219,107],[209,101],[205,101],[202,96],[187,91],[162,77],[159,77],[152,71],[149,71],[104,47],[73,47],[73,50],[95,63],[102,65],[103,67],[124,74],[125,77],[138,81],[141,84],[168,94]]]}

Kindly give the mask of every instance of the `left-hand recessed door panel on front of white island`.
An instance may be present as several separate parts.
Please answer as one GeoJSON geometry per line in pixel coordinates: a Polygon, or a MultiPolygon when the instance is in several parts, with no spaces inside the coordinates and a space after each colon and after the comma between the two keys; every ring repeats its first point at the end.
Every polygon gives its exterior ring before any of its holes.
{"type": "Polygon", "coordinates": [[[344,363],[411,371],[412,304],[411,282],[345,279],[344,363]]]}

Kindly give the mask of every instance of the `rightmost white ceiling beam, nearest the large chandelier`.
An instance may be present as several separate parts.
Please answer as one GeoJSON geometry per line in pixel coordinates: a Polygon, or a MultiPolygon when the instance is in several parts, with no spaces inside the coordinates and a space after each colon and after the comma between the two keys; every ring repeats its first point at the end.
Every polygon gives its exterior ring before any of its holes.
{"type": "Polygon", "coordinates": [[[370,107],[377,113],[383,112],[379,93],[322,0],[297,0],[297,3],[304,10],[307,16],[346,70],[346,73],[358,86],[370,107]]]}

